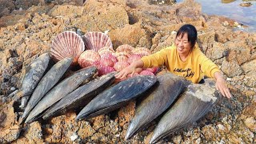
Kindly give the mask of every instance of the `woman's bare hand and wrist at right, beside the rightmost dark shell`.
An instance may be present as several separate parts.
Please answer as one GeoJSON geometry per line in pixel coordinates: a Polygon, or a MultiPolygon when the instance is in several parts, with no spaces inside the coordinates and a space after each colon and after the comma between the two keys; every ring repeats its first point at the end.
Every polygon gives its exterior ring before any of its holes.
{"type": "Polygon", "coordinates": [[[230,90],[226,86],[226,81],[223,78],[222,74],[217,71],[214,73],[214,78],[216,80],[216,84],[215,84],[216,89],[219,90],[224,97],[231,98],[232,94],[230,94],[230,90]]]}

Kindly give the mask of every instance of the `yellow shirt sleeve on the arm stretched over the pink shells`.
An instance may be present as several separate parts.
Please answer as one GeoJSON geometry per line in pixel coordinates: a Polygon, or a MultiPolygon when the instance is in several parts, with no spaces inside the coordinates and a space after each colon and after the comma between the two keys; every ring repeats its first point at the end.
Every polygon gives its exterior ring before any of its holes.
{"type": "Polygon", "coordinates": [[[170,51],[170,48],[160,50],[154,54],[150,54],[148,56],[144,56],[141,58],[144,63],[144,68],[154,67],[154,66],[162,66],[167,63],[167,54],[170,51]]]}

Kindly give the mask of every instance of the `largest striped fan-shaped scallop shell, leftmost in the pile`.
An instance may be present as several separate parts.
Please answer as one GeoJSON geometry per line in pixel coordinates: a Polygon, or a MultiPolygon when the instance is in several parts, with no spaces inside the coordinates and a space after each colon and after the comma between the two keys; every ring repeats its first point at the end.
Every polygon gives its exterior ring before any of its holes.
{"type": "Polygon", "coordinates": [[[84,50],[85,45],[82,38],[73,31],[65,31],[54,37],[51,43],[50,57],[56,62],[73,57],[72,65],[77,65],[78,58],[84,50]]]}

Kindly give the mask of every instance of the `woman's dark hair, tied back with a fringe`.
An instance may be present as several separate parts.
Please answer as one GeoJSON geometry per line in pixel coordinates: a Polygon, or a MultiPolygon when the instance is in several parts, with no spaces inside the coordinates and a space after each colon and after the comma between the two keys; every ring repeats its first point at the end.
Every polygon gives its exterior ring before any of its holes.
{"type": "Polygon", "coordinates": [[[190,24],[183,25],[181,28],[179,28],[176,34],[176,38],[181,34],[182,34],[182,37],[184,34],[187,34],[188,41],[190,42],[191,46],[194,47],[195,42],[197,41],[197,38],[198,38],[198,32],[195,29],[195,27],[190,24]]]}

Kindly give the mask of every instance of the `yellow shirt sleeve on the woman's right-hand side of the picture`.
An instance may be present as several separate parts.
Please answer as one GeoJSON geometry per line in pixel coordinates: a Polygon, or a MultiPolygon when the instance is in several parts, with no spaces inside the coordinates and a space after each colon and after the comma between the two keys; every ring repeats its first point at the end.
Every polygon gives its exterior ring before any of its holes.
{"type": "Polygon", "coordinates": [[[207,58],[205,54],[203,54],[200,51],[200,55],[199,55],[199,62],[200,62],[200,66],[201,66],[201,70],[202,72],[210,78],[214,78],[214,73],[215,72],[220,72],[221,70],[219,70],[218,66],[212,62],[210,60],[210,58],[207,58]]]}

